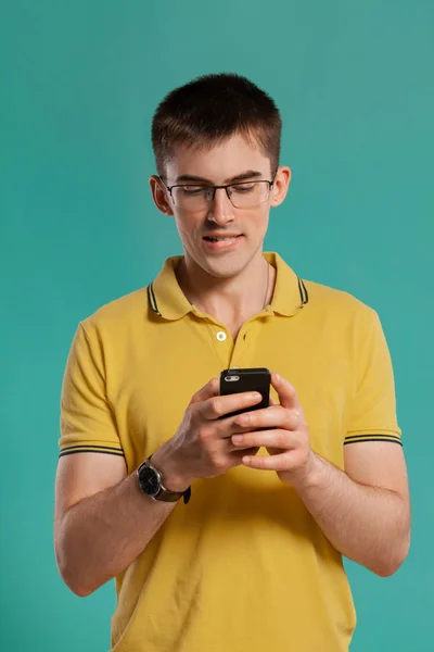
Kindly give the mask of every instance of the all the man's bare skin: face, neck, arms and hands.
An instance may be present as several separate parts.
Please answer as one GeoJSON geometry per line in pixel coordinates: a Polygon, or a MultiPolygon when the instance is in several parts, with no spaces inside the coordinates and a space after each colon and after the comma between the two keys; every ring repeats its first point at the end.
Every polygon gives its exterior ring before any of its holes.
{"type": "MultiPolygon", "coordinates": [[[[179,148],[167,164],[166,183],[170,186],[180,175],[194,175],[222,185],[248,170],[271,178],[266,153],[254,140],[235,135],[210,149],[179,148]]],[[[258,288],[265,292],[267,274],[267,301],[272,297],[275,275],[263,256],[263,241],[269,211],[284,200],[290,180],[290,168],[279,167],[268,202],[254,210],[233,209],[225,191],[218,190],[207,211],[184,213],[173,204],[158,177],[150,179],[155,204],[175,218],[183,244],[184,262],[177,269],[182,290],[203,312],[225,324],[233,338],[263,309],[258,288]],[[204,248],[204,235],[231,231],[243,234],[237,250],[216,253],[204,248]]],[[[174,437],[153,455],[165,486],[181,491],[195,478],[221,475],[239,464],[257,473],[277,473],[283,484],[296,489],[336,550],[380,576],[393,574],[410,544],[401,447],[388,442],[346,446],[345,472],[340,471],[310,448],[309,426],[295,388],[276,373],[271,384],[278,403],[228,418],[219,417],[255,404],[260,396],[220,397],[217,378],[200,389],[174,437]],[[256,455],[261,446],[269,455],[256,455]]],[[[100,453],[61,457],[54,544],[65,582],[78,595],[88,595],[122,573],[177,504],[144,496],[136,473],[127,475],[122,457],[100,453]]]]}

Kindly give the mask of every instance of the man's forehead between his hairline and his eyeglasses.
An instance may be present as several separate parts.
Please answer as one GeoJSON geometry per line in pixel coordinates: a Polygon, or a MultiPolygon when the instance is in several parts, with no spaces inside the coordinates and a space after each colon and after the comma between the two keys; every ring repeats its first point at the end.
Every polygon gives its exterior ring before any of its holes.
{"type": "Polygon", "coordinates": [[[178,176],[203,177],[216,185],[237,177],[248,170],[271,174],[269,158],[252,138],[237,134],[210,147],[180,146],[166,165],[167,178],[178,176]]]}

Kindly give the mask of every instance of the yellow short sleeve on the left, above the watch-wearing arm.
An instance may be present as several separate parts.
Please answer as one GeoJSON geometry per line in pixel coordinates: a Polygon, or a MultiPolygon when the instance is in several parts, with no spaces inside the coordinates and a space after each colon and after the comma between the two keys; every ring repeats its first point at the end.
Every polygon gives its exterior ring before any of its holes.
{"type": "Polygon", "coordinates": [[[82,324],[69,350],[62,385],[60,455],[78,452],[124,455],[105,390],[101,344],[82,324]]]}

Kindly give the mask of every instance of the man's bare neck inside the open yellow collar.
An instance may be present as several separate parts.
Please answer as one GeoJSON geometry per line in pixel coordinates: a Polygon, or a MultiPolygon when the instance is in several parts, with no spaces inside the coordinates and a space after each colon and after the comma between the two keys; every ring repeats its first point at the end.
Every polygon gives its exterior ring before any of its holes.
{"type": "Polygon", "coordinates": [[[176,269],[190,303],[225,325],[244,323],[271,301],[276,271],[261,252],[235,276],[215,277],[189,258],[176,269]]]}

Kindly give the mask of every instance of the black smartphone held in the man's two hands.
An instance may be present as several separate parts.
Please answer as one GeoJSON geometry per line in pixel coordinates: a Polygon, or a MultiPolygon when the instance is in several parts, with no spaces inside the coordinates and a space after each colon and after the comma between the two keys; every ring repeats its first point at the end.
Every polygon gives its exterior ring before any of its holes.
{"type": "Polygon", "coordinates": [[[229,414],[225,414],[221,418],[228,418],[228,416],[235,416],[243,412],[268,408],[270,402],[270,380],[271,375],[266,367],[234,368],[221,372],[220,396],[241,393],[244,391],[258,391],[263,396],[260,403],[256,403],[251,408],[238,410],[237,412],[230,412],[229,414]]]}

